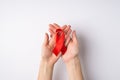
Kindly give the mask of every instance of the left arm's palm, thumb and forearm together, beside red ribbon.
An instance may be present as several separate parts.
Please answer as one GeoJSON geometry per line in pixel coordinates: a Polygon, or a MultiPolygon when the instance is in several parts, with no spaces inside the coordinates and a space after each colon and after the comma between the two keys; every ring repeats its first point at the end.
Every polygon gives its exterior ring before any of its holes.
{"type": "Polygon", "coordinates": [[[52,73],[55,62],[59,59],[60,55],[57,57],[52,53],[54,46],[54,37],[49,39],[48,34],[45,34],[45,39],[42,44],[42,59],[40,63],[38,80],[52,80],[52,73]]]}

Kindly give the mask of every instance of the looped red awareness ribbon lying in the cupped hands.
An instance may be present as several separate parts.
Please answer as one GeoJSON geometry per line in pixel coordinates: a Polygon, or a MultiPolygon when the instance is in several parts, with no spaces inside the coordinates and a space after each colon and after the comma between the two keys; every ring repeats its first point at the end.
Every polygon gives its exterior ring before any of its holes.
{"type": "Polygon", "coordinates": [[[56,42],[55,42],[55,47],[53,49],[53,53],[57,56],[58,53],[61,51],[62,55],[64,55],[64,53],[67,50],[67,47],[65,47],[65,34],[64,31],[62,29],[57,29],[56,30],[56,42]]]}

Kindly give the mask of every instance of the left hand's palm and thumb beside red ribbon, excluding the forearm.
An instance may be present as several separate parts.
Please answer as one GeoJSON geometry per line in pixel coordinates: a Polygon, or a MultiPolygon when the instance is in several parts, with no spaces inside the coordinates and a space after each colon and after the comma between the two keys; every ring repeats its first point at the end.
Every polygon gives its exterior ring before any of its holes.
{"type": "Polygon", "coordinates": [[[48,34],[45,34],[45,39],[44,42],[42,44],[42,61],[46,61],[48,64],[50,65],[54,65],[55,62],[59,59],[60,55],[58,56],[54,55],[52,50],[54,48],[55,45],[55,35],[53,35],[50,39],[48,34]]]}

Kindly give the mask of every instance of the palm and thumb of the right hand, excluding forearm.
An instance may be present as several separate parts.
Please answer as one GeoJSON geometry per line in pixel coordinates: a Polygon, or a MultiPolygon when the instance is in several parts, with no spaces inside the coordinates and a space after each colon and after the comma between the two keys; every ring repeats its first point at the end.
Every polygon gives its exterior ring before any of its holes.
{"type": "Polygon", "coordinates": [[[64,62],[67,63],[72,59],[75,59],[76,57],[78,57],[78,53],[79,53],[79,43],[77,40],[76,31],[73,31],[72,38],[70,39],[67,46],[67,51],[62,56],[62,58],[64,62]]]}

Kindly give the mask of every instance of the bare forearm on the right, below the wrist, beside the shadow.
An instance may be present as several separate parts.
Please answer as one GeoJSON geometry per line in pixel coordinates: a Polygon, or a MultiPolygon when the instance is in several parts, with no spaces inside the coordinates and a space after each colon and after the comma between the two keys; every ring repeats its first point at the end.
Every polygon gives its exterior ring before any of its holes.
{"type": "Polygon", "coordinates": [[[74,59],[68,61],[66,63],[68,75],[70,80],[83,80],[82,71],[81,71],[81,65],[80,60],[77,57],[74,59]]]}

